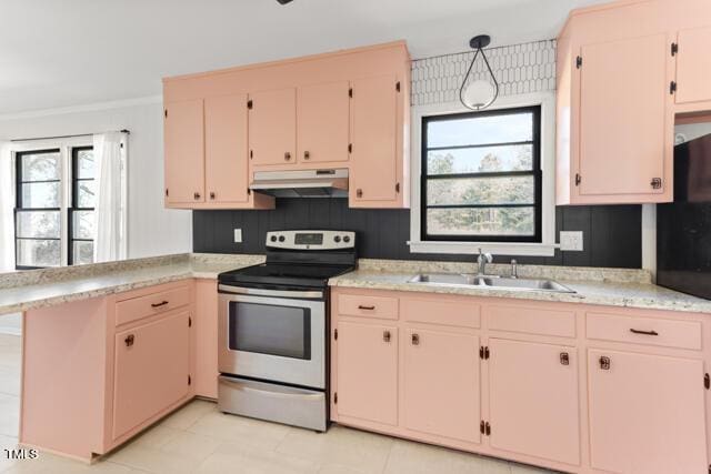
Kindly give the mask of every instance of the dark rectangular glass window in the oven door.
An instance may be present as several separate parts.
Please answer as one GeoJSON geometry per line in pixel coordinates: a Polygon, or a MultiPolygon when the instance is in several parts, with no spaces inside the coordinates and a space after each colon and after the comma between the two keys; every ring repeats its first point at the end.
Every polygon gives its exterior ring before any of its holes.
{"type": "Polygon", "coordinates": [[[231,351],[311,360],[311,310],[230,302],[231,351]]]}

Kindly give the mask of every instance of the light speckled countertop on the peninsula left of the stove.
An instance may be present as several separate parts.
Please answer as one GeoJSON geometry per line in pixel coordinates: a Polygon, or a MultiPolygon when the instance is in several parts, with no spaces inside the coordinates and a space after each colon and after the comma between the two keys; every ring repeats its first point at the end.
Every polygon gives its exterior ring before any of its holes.
{"type": "Polygon", "coordinates": [[[262,255],[181,254],[1,274],[0,314],[184,279],[216,279],[221,272],[263,261],[262,255]]]}

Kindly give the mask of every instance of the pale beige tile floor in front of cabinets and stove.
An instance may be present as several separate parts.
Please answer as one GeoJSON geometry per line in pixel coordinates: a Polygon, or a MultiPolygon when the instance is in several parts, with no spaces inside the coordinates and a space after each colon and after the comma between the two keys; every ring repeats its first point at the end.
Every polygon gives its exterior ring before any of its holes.
{"type": "Polygon", "coordinates": [[[84,465],[51,454],[9,461],[17,443],[19,336],[0,334],[0,473],[471,473],[535,474],[533,467],[332,426],[318,434],[218,412],[193,401],[134,441],[84,465]]]}

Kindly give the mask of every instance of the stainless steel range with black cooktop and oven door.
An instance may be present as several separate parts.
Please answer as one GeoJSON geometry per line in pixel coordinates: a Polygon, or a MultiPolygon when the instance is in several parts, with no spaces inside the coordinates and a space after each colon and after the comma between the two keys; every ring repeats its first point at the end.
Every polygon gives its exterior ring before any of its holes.
{"type": "Polygon", "coordinates": [[[356,234],[267,233],[267,262],[221,273],[218,406],[328,425],[328,280],[356,268],[356,234]]]}

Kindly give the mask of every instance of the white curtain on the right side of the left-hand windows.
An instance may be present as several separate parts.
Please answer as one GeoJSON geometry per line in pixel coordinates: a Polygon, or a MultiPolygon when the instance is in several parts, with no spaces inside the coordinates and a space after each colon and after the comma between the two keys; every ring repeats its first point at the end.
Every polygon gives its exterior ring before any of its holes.
{"type": "Polygon", "coordinates": [[[94,262],[126,259],[123,229],[124,134],[108,132],[93,135],[97,206],[93,242],[94,262]]]}

